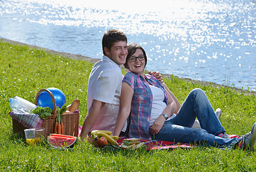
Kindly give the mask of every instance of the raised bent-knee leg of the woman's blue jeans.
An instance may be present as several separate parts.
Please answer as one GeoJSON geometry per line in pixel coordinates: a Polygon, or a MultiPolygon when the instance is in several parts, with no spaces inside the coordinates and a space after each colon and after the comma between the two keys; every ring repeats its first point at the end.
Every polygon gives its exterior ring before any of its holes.
{"type": "Polygon", "coordinates": [[[186,97],[176,118],[172,119],[172,123],[191,128],[196,117],[202,129],[207,130],[207,133],[217,135],[225,131],[214,113],[207,95],[198,88],[192,90],[186,97]]]}

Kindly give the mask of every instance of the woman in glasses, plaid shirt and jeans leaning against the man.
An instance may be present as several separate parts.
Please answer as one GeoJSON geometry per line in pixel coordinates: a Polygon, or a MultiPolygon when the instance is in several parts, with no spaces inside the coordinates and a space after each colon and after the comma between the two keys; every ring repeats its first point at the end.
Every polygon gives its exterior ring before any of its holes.
{"type": "Polygon", "coordinates": [[[164,83],[144,74],[146,62],[146,52],[140,45],[128,46],[124,66],[129,72],[123,78],[120,113],[114,135],[120,135],[125,120],[131,113],[128,133],[131,138],[252,150],[256,139],[256,123],[250,133],[230,139],[203,90],[192,90],[180,106],[179,101],[164,83]],[[202,129],[191,128],[196,117],[202,129]]]}

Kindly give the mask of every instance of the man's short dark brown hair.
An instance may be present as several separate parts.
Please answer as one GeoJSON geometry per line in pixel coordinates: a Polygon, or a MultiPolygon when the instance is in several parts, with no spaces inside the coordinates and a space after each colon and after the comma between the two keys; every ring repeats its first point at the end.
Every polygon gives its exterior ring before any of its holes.
{"type": "MultiPolygon", "coordinates": [[[[123,41],[127,43],[127,37],[123,32],[120,32],[117,29],[111,29],[108,32],[105,32],[103,35],[103,54],[105,54],[104,47],[107,47],[109,50],[115,42],[123,41]]],[[[106,54],[105,54],[106,55],[106,54]]]]}

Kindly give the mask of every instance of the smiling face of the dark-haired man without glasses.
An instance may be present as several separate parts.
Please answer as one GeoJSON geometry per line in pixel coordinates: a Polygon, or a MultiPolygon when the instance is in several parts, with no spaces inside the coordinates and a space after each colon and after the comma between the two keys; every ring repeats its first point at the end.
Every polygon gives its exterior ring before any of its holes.
{"type": "Polygon", "coordinates": [[[127,48],[127,42],[119,41],[114,42],[110,49],[104,47],[104,51],[106,56],[112,59],[116,64],[123,65],[125,64],[125,59],[128,54],[127,48]]]}

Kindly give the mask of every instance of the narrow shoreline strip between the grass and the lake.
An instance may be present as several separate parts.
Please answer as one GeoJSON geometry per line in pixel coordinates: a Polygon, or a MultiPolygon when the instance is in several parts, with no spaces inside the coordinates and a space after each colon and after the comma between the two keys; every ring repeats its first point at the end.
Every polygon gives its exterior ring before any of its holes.
{"type": "MultiPolygon", "coordinates": [[[[33,49],[42,49],[44,50],[45,52],[49,52],[51,54],[57,54],[57,55],[61,55],[62,57],[67,57],[67,58],[70,58],[70,59],[80,59],[80,60],[86,60],[88,62],[98,62],[100,59],[95,59],[95,58],[92,58],[92,57],[86,57],[86,56],[82,56],[80,54],[70,54],[68,52],[57,52],[55,50],[52,50],[52,49],[47,49],[47,48],[43,48],[43,47],[37,47],[35,45],[29,45],[29,44],[25,44],[25,43],[22,43],[22,42],[16,42],[16,41],[13,41],[13,40],[10,40],[10,39],[5,39],[5,38],[2,38],[0,37],[0,40],[2,42],[8,42],[10,44],[17,44],[17,45],[22,45],[22,46],[28,46],[28,47],[31,47],[33,49]]],[[[167,79],[171,77],[171,75],[167,75],[167,74],[161,74],[162,77],[166,77],[167,79]]],[[[174,77],[177,77],[177,76],[174,76],[174,77]]],[[[201,85],[214,85],[214,87],[229,87],[227,85],[219,85],[217,83],[214,83],[214,82],[206,82],[206,81],[199,81],[199,80],[191,80],[189,78],[183,78],[183,77],[178,77],[179,79],[181,80],[186,80],[187,82],[196,82],[196,83],[199,83],[201,85]]],[[[230,87],[231,89],[233,90],[236,90],[237,92],[244,92],[244,93],[247,93],[248,95],[252,95],[252,94],[256,94],[256,91],[248,91],[248,90],[242,90],[240,88],[237,88],[237,87],[230,87]]]]}

